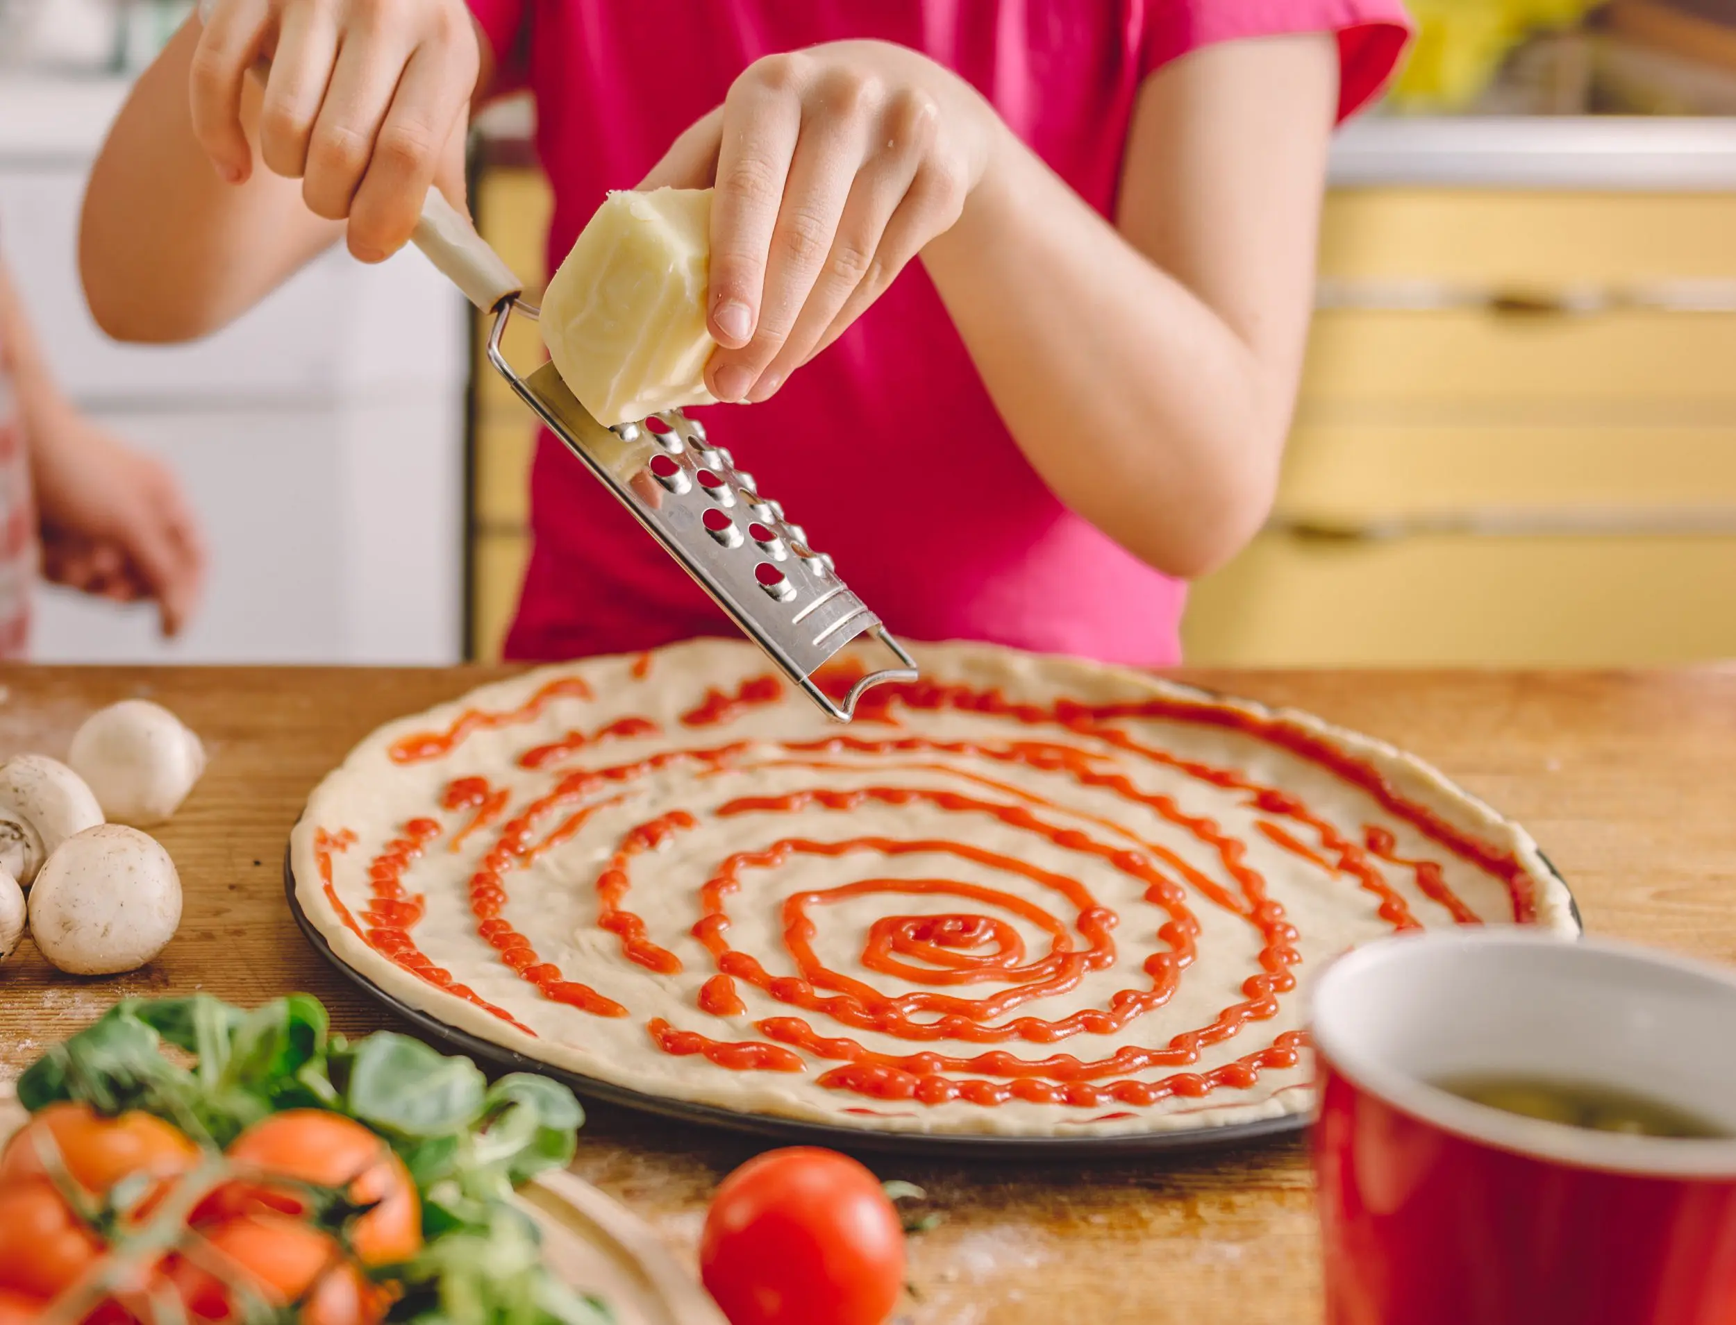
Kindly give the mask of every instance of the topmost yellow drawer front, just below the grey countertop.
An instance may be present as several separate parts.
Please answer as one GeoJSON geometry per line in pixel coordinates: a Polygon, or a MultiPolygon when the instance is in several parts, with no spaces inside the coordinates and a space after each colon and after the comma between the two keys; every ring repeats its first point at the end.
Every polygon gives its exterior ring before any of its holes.
{"type": "Polygon", "coordinates": [[[1340,189],[1321,276],[1469,284],[1736,276],[1736,196],[1340,189]]]}

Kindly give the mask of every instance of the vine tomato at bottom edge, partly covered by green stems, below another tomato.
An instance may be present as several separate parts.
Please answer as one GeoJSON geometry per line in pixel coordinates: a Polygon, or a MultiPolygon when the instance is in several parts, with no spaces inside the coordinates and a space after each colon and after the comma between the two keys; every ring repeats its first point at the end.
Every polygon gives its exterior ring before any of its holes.
{"type": "MultiPolygon", "coordinates": [[[[201,1228],[219,1264],[229,1266],[271,1306],[300,1302],[302,1325],[375,1325],[385,1297],[363,1278],[342,1247],[286,1214],[252,1214],[201,1228]]],[[[165,1270],[194,1322],[236,1322],[234,1278],[175,1256],[165,1270]]]]}

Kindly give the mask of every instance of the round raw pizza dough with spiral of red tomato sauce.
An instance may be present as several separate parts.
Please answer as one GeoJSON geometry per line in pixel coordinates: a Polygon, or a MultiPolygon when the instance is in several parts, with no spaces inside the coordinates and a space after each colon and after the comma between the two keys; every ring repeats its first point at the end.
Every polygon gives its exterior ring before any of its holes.
{"type": "Polygon", "coordinates": [[[319,784],[297,897],[380,989],[531,1058],[927,1132],[1300,1112],[1335,954],[1576,931],[1521,827],[1378,741],[1090,662],[918,662],[847,728],[734,642],[484,687],[319,784]]]}

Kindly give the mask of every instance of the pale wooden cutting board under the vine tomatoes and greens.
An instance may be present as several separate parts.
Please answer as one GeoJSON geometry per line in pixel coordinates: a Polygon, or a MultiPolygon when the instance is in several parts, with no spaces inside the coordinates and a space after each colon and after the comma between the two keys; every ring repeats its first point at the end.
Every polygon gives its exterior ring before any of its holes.
{"type": "MultiPolygon", "coordinates": [[[[0,1086],[0,1145],[26,1119],[0,1086]]],[[[609,1304],[618,1325],[726,1325],[722,1311],[639,1216],[569,1172],[519,1191],[543,1235],[550,1270],[609,1304]]]]}

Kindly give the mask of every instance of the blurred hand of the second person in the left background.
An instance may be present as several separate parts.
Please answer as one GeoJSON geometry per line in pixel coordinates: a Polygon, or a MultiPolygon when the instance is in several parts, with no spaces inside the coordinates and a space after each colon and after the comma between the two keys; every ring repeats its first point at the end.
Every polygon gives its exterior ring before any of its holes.
{"type": "Polygon", "coordinates": [[[115,602],[155,598],[163,635],[198,605],[205,543],[175,475],[66,409],[30,439],[42,572],[115,602]]]}

